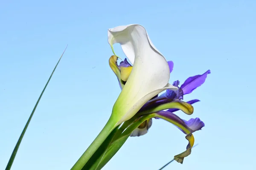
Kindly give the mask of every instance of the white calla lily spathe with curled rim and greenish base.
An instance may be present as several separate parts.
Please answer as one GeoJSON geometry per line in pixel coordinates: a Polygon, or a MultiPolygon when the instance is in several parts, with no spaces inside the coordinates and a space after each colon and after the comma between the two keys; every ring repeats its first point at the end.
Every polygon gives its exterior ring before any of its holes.
{"type": "Polygon", "coordinates": [[[109,29],[108,43],[112,50],[113,44],[119,43],[133,65],[113,106],[111,117],[118,121],[117,124],[133,117],[147,101],[160,92],[178,89],[168,83],[169,65],[155,48],[143,26],[133,24],[109,29]]]}

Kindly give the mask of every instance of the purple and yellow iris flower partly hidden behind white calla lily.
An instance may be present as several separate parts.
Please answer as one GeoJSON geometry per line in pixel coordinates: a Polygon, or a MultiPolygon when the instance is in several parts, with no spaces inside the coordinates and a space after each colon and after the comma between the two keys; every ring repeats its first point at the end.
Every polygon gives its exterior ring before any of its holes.
{"type": "MultiPolygon", "coordinates": [[[[130,67],[131,64],[128,63],[128,61],[125,59],[124,61],[120,62],[120,64],[118,65],[116,62],[117,61],[116,57],[111,59],[110,59],[111,69],[113,70],[113,72],[115,72],[119,80],[119,85],[122,89],[122,86],[124,86],[125,81],[122,81],[122,79],[120,78],[122,74],[121,67],[130,67]]],[[[169,69],[171,73],[173,70],[174,64],[172,61],[168,61],[168,64],[169,64],[169,69]]],[[[181,100],[183,100],[184,95],[190,94],[191,92],[193,92],[193,90],[195,90],[196,88],[204,84],[207,78],[207,75],[210,73],[211,73],[210,70],[207,70],[202,75],[195,75],[195,76],[189,77],[181,86],[179,86],[180,81],[178,80],[174,81],[172,85],[178,87],[177,91],[167,89],[166,92],[163,93],[162,95],[160,96],[157,95],[154,98],[152,98],[150,101],[148,101],[140,109],[138,113],[147,112],[148,110],[154,109],[155,107],[161,106],[163,104],[168,104],[168,103],[177,102],[177,101],[181,102],[181,100]]],[[[198,99],[194,99],[191,101],[187,101],[186,103],[194,104],[198,101],[199,101],[198,99]]],[[[183,120],[173,113],[178,110],[179,109],[169,108],[166,110],[157,111],[154,113],[155,114],[154,118],[164,119],[166,121],[169,121],[170,123],[174,124],[178,129],[180,129],[183,133],[186,134],[186,139],[189,141],[189,144],[186,147],[187,150],[175,156],[175,160],[177,162],[183,163],[184,157],[189,156],[189,154],[191,153],[191,148],[194,144],[194,137],[192,133],[194,133],[197,130],[201,130],[201,128],[204,127],[204,122],[201,121],[200,118],[191,118],[189,119],[189,121],[183,120]]],[[[130,136],[145,135],[148,132],[148,129],[151,127],[151,125],[152,125],[152,118],[140,124],[140,126],[137,127],[137,129],[135,129],[130,136]]]]}

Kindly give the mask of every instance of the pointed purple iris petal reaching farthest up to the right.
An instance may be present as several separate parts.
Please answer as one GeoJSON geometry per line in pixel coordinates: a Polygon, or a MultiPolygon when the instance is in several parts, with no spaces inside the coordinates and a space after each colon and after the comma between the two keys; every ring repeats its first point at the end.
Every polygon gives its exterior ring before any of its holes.
{"type": "Polygon", "coordinates": [[[186,81],[180,86],[180,88],[183,90],[183,95],[191,93],[194,89],[204,84],[207,75],[210,73],[211,71],[207,70],[207,72],[202,75],[195,75],[186,79],[186,81]]]}

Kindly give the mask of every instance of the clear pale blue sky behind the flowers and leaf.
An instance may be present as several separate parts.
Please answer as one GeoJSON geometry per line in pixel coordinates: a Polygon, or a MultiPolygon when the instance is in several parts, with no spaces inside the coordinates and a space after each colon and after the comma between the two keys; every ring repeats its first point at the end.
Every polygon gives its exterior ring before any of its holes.
{"type": "MultiPolygon", "coordinates": [[[[108,120],[120,89],[108,65],[107,29],[142,24],[174,61],[170,83],[211,70],[184,100],[200,99],[193,115],[203,130],[183,164],[166,170],[253,170],[255,149],[256,1],[10,0],[0,5],[0,169],[49,78],[12,170],[69,170],[108,120]]],[[[116,53],[122,58],[121,48],[116,53]]],[[[185,135],[153,120],[129,138],[104,170],[157,170],[184,151],[185,135]]]]}

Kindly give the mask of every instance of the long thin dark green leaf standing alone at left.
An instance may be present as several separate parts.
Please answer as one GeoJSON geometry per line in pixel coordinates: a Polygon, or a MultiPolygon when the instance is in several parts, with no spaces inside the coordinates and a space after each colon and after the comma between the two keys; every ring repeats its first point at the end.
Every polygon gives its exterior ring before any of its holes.
{"type": "MultiPolygon", "coordinates": [[[[64,52],[66,51],[66,49],[67,49],[67,46],[66,46],[66,48],[64,49],[64,52]]],[[[62,56],[64,55],[64,52],[62,53],[61,57],[59,58],[58,63],[61,61],[61,58],[62,58],[62,56]]],[[[38,98],[38,101],[37,101],[36,104],[35,104],[34,109],[32,110],[32,113],[31,113],[30,116],[29,116],[29,119],[28,119],[28,121],[27,121],[27,123],[26,123],[26,125],[25,125],[25,127],[24,127],[24,129],[23,129],[23,131],[22,131],[22,133],[21,133],[21,135],[20,135],[20,138],[19,138],[19,140],[17,141],[17,144],[16,144],[14,150],[12,151],[12,155],[11,155],[11,157],[10,157],[10,159],[9,159],[9,162],[8,162],[7,166],[6,166],[6,170],[10,170],[11,167],[12,167],[12,163],[13,163],[13,161],[14,161],[14,159],[15,159],[15,156],[16,156],[16,154],[17,154],[17,151],[18,151],[18,149],[19,149],[19,147],[20,147],[20,143],[21,143],[21,141],[22,141],[22,138],[23,138],[23,136],[24,136],[24,134],[25,134],[25,132],[26,132],[26,129],[27,129],[28,126],[29,126],[29,123],[30,123],[30,121],[31,121],[31,119],[32,119],[32,116],[34,115],[35,109],[36,109],[36,107],[38,106],[38,103],[39,103],[39,101],[40,101],[42,95],[44,94],[44,90],[46,89],[46,87],[47,87],[49,81],[50,81],[51,78],[52,78],[52,75],[53,75],[55,69],[56,69],[57,66],[58,66],[58,63],[56,64],[55,68],[53,69],[52,74],[50,75],[50,77],[49,77],[49,79],[48,79],[46,85],[44,86],[43,91],[41,92],[41,95],[40,95],[39,98],[38,98]]]]}

